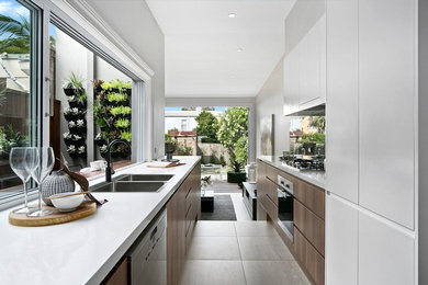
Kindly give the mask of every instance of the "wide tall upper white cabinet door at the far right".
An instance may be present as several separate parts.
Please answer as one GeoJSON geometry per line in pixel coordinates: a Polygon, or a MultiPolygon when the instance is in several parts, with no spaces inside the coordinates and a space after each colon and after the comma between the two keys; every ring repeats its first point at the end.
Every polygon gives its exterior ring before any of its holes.
{"type": "Polygon", "coordinates": [[[360,205],[415,226],[415,0],[359,0],[360,205]]]}

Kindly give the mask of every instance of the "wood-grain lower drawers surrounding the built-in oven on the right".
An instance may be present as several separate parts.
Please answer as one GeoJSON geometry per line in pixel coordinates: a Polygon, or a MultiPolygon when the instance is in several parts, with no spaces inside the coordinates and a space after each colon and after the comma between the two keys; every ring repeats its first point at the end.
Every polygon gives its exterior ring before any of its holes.
{"type": "Polygon", "coordinates": [[[325,192],[281,169],[258,160],[257,219],[273,225],[311,283],[325,284],[325,192]],[[294,240],[278,225],[278,175],[294,184],[294,240]]]}

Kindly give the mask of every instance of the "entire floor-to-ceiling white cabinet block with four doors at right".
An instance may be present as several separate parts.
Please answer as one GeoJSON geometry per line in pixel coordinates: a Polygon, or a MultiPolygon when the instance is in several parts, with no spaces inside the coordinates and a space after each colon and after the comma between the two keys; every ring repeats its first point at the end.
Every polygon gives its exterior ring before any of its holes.
{"type": "Polygon", "coordinates": [[[416,0],[326,15],[326,284],[417,284],[416,0]]]}

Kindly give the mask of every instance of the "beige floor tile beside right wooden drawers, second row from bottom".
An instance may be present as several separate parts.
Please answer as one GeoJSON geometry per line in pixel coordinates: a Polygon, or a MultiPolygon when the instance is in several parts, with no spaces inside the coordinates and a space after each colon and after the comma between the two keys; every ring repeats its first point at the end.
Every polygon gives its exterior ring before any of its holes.
{"type": "Polygon", "coordinates": [[[243,260],[294,260],[279,237],[238,237],[243,260]]]}

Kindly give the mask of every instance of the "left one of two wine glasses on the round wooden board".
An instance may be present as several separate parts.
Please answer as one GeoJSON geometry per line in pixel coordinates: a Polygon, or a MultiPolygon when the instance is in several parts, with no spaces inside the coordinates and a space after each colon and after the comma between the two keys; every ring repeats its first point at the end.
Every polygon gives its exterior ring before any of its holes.
{"type": "Polygon", "coordinates": [[[24,184],[24,207],[13,210],[18,214],[27,214],[33,210],[29,207],[29,197],[26,183],[31,178],[31,169],[27,168],[29,162],[33,161],[34,167],[38,164],[37,149],[33,147],[15,147],[12,148],[9,156],[9,163],[13,172],[22,180],[24,184]]]}

